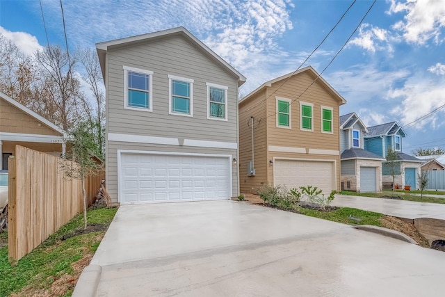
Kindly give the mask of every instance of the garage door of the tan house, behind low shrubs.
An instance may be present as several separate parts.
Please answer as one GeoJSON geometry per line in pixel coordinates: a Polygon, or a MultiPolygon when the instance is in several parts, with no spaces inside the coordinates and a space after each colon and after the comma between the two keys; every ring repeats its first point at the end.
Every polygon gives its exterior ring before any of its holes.
{"type": "Polygon", "coordinates": [[[334,162],[275,159],[273,183],[275,186],[285,184],[287,188],[317,186],[323,193],[330,194],[337,188],[334,162]]]}

